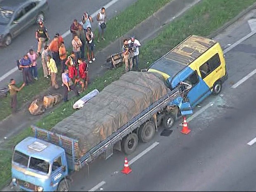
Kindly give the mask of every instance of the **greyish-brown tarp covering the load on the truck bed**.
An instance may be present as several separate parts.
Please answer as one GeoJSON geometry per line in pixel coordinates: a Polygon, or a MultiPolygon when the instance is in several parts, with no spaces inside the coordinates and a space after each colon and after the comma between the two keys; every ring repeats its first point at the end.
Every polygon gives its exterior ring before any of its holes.
{"type": "Polygon", "coordinates": [[[79,156],[83,156],[167,91],[161,75],[130,71],[57,123],[52,131],[79,140],[79,156]]]}

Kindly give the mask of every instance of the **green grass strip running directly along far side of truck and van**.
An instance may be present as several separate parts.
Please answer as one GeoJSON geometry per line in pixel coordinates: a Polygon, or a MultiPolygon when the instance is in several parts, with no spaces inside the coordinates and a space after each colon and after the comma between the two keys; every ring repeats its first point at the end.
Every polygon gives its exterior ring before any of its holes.
{"type": "MultiPolygon", "coordinates": [[[[256,0],[202,0],[199,4],[189,9],[183,16],[177,18],[164,28],[164,31],[155,39],[150,40],[140,49],[140,68],[146,68],[154,60],[177,45],[190,34],[209,36],[225,22],[235,17],[239,12],[252,5],[256,0]]],[[[123,67],[107,71],[104,76],[97,78],[88,86],[87,92],[97,88],[102,90],[109,83],[116,81],[124,73],[123,67]]],[[[86,92],[86,93],[87,93],[86,92]]],[[[46,115],[36,123],[37,126],[50,130],[52,126],[71,115],[72,98],[68,103],[59,105],[52,113],[46,115]]],[[[9,149],[16,145],[24,137],[31,135],[30,128],[22,131],[7,143],[9,149]]],[[[10,180],[11,153],[0,151],[0,188],[10,180]]]]}

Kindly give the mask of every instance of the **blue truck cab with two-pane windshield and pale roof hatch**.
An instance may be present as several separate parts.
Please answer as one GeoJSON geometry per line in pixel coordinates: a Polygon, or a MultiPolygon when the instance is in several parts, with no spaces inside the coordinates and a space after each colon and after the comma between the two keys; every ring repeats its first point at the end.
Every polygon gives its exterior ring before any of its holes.
{"type": "Polygon", "coordinates": [[[14,148],[12,184],[26,191],[56,191],[68,175],[62,147],[27,137],[14,148]]]}

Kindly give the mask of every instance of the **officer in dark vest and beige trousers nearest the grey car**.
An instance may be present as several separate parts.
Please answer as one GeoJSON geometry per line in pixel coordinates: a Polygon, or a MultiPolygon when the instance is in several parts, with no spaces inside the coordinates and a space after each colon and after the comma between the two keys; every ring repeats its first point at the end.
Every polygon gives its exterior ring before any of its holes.
{"type": "Polygon", "coordinates": [[[38,55],[41,52],[42,45],[43,47],[46,45],[46,41],[49,40],[49,35],[47,28],[44,26],[43,21],[39,21],[39,27],[36,30],[36,39],[38,40],[38,45],[37,45],[37,53],[38,55]]]}

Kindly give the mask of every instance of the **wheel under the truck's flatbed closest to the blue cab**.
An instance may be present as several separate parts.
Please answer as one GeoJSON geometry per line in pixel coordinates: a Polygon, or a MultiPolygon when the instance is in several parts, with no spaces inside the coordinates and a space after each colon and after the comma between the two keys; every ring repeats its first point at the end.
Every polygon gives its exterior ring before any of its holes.
{"type": "Polygon", "coordinates": [[[125,154],[132,154],[138,145],[138,136],[135,133],[131,133],[123,138],[121,147],[125,154]]]}

